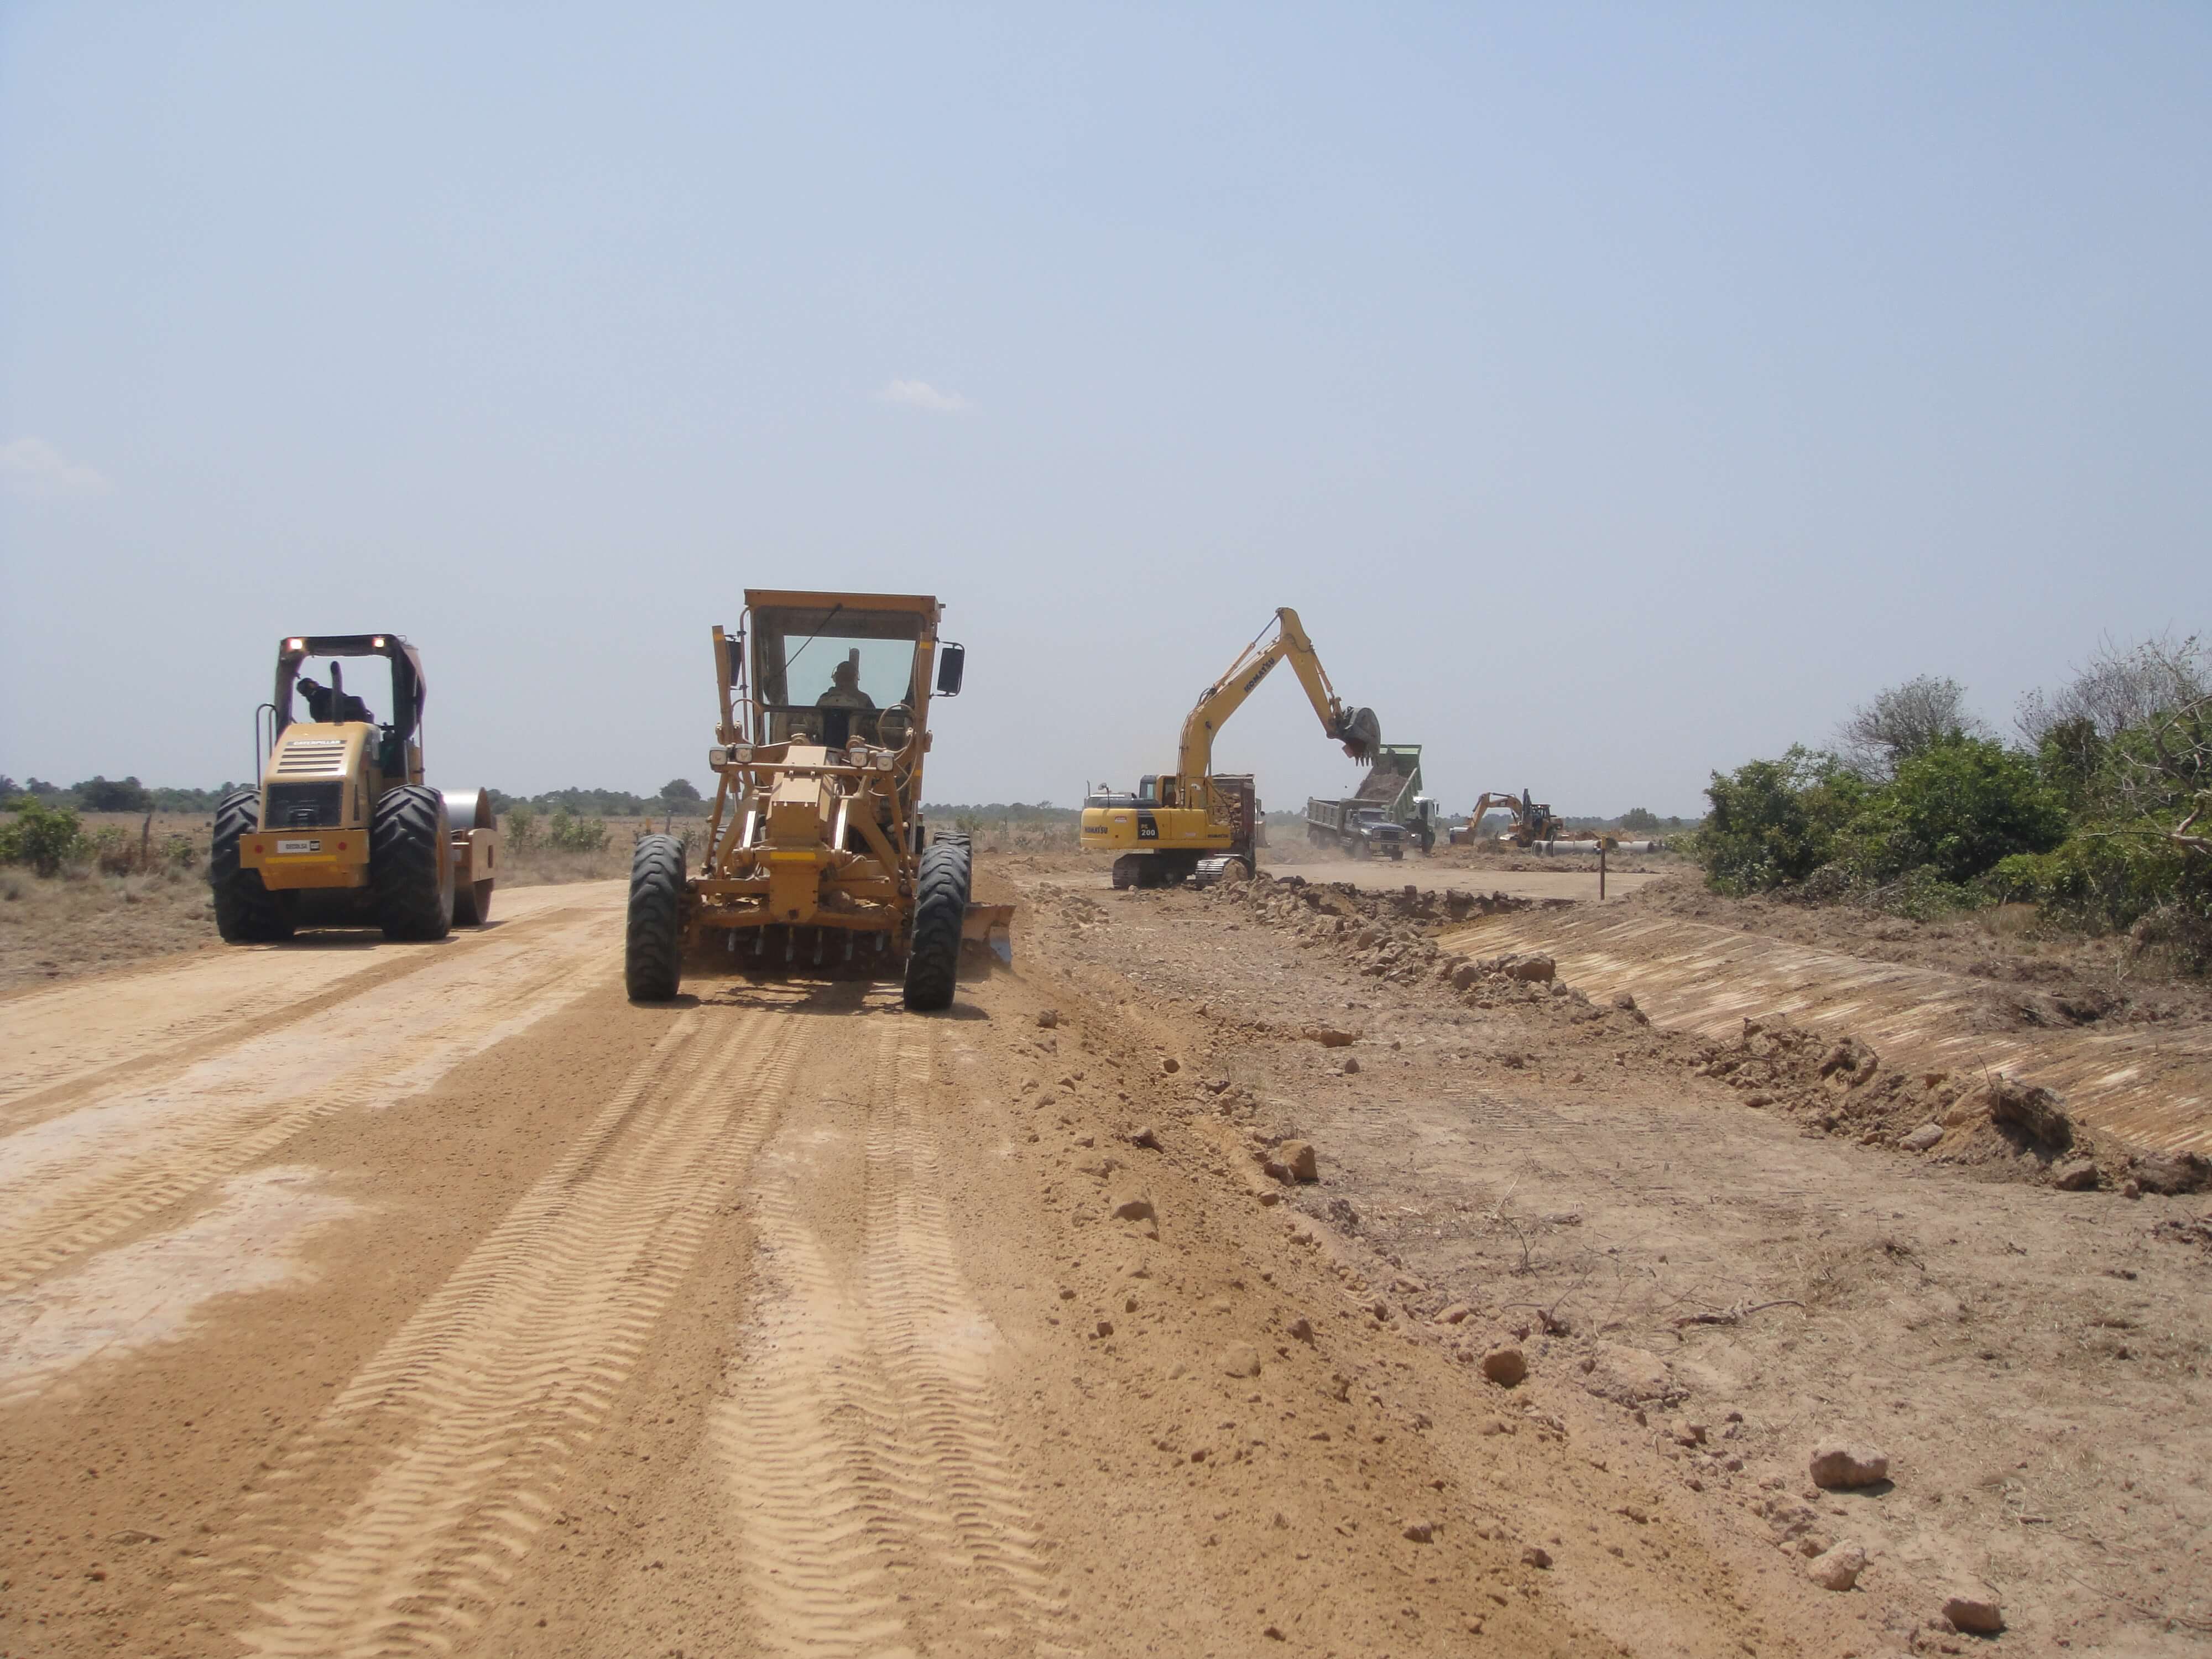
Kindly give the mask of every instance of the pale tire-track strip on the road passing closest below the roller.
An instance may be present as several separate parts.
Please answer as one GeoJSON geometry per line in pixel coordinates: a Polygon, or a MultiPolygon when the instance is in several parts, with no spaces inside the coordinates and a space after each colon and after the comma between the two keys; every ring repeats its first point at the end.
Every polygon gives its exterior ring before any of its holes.
{"type": "MultiPolygon", "coordinates": [[[[243,1037],[265,1037],[425,969],[451,969],[456,958],[476,951],[575,933],[580,916],[606,911],[611,900],[544,905],[487,933],[453,933],[440,945],[341,947],[343,962],[363,960],[352,969],[332,964],[330,953],[312,945],[263,945],[4,1002],[0,1018],[15,1042],[0,1057],[0,1126],[31,1124],[131,1079],[175,1077],[243,1037]],[[155,973],[157,991],[139,984],[155,973]],[[179,1013],[179,1004],[199,1004],[199,1011],[179,1013]]],[[[557,938],[546,942],[560,945],[557,938]]]]}

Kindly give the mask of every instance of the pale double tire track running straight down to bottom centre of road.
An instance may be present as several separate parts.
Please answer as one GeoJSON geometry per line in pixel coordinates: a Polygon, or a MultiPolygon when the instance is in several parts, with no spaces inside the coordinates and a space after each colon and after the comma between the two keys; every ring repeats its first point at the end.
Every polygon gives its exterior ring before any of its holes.
{"type": "Polygon", "coordinates": [[[1066,1606],[991,1398],[995,1327],[962,1283],[947,1225],[925,1121],[933,1051],[936,1033],[916,1022],[880,1040],[856,1259],[843,1274],[818,1232],[838,1199],[830,1170],[783,1152],[754,1188],[772,1294],[712,1436],[741,1500],[745,1590],[772,1650],[938,1646],[902,1606],[951,1613],[969,1641],[1062,1650],[1048,1637],[1066,1606]]]}

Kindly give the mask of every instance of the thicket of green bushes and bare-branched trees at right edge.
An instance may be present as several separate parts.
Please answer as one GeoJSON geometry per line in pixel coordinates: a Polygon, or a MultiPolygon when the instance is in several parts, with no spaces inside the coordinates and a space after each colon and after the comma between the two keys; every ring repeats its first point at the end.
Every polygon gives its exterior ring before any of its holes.
{"type": "Polygon", "coordinates": [[[1955,679],[1851,710],[1832,748],[1712,774],[1708,883],[1907,916],[2033,902],[2212,969],[2212,650],[2104,644],[2006,741],[1955,679]]]}

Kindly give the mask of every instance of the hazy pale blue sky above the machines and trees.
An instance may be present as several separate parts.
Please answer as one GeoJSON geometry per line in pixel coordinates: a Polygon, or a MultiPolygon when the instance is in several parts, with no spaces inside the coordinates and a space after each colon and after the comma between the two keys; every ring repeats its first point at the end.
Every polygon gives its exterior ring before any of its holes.
{"type": "MultiPolygon", "coordinates": [[[[0,7],[0,770],[703,779],[739,591],[931,591],[933,799],[1294,604],[1464,810],[1697,812],[2212,622],[2212,9],[0,7]]],[[[1221,743],[1352,768],[1290,677],[1221,743]]]]}

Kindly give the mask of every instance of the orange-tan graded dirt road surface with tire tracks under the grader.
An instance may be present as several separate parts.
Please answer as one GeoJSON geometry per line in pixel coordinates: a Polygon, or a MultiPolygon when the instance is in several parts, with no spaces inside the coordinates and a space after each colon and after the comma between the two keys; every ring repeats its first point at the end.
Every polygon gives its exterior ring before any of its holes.
{"type": "Polygon", "coordinates": [[[0,1004],[0,1652],[1613,1650],[1110,1002],[639,1009],[619,898],[0,1004]]]}

